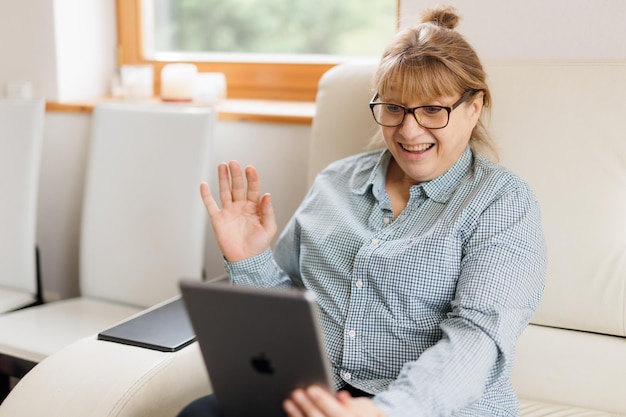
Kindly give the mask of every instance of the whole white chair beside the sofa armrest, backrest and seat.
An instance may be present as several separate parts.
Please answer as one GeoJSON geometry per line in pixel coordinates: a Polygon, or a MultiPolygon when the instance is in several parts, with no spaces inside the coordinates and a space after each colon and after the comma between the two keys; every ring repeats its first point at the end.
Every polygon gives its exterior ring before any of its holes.
{"type": "MultiPolygon", "coordinates": [[[[81,222],[81,296],[0,316],[0,372],[35,364],[201,279],[215,112],[177,105],[96,106],[81,222]]],[[[103,342],[106,343],[106,342],[103,342]]],[[[102,364],[106,366],[106,364],[102,364]]]]}

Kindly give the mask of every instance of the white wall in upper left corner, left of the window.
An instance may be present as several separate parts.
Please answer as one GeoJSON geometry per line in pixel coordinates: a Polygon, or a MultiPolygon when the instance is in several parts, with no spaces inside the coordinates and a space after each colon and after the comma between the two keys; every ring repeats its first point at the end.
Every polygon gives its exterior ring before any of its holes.
{"type": "Polygon", "coordinates": [[[0,0],[0,92],[19,81],[47,100],[107,94],[115,33],[112,0],[0,0]]]}

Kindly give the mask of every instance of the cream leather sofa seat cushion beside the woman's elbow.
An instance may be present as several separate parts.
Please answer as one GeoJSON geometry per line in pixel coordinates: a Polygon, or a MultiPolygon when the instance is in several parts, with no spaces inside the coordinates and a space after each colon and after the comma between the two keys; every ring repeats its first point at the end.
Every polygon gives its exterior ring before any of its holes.
{"type": "Polygon", "coordinates": [[[626,416],[624,375],[626,338],[531,324],[517,343],[512,381],[528,402],[626,416]]]}

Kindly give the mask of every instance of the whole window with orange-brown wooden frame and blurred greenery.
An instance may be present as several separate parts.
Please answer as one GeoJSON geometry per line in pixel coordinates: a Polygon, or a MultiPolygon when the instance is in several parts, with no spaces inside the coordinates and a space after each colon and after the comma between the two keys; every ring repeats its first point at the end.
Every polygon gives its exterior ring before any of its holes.
{"type": "Polygon", "coordinates": [[[228,96],[314,100],[347,56],[379,56],[398,0],[117,0],[120,65],[168,62],[226,74],[228,96]],[[235,50],[236,52],[233,52],[235,50]]]}

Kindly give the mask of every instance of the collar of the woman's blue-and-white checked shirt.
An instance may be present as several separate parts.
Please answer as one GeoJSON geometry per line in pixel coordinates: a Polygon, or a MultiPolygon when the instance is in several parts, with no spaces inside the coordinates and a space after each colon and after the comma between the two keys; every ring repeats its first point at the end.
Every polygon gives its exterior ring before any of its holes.
{"type": "MultiPolygon", "coordinates": [[[[461,154],[461,157],[448,171],[444,172],[437,178],[415,185],[414,187],[422,187],[428,198],[438,203],[445,203],[450,199],[463,178],[471,170],[473,159],[473,153],[468,146],[461,154]]],[[[354,193],[364,194],[371,188],[374,197],[380,200],[384,194],[385,179],[390,161],[391,153],[389,150],[385,149],[381,152],[380,157],[378,158],[376,165],[374,165],[367,181],[360,187],[355,187],[353,190],[354,193]]]]}

